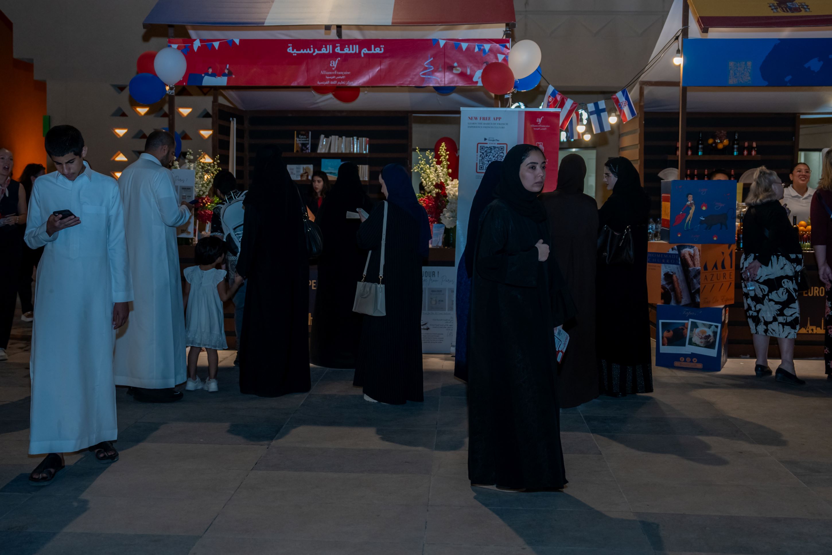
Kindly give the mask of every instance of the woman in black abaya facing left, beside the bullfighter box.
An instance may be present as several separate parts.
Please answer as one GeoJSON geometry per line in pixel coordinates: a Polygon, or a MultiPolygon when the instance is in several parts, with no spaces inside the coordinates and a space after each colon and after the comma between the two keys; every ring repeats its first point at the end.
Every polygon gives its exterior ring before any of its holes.
{"type": "Polygon", "coordinates": [[[597,263],[596,345],[601,390],[612,397],[653,390],[650,315],[647,311],[647,216],[650,197],[638,171],[623,156],[604,164],[612,196],[598,211],[598,225],[623,233],[630,228],[633,263],[597,263]]]}

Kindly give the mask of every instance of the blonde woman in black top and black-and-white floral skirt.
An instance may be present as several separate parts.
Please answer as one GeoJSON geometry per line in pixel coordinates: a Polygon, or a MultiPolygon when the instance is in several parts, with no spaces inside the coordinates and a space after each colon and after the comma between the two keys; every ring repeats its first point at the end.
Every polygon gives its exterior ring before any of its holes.
{"type": "Polygon", "coordinates": [[[803,385],[795,374],[795,338],[800,327],[797,302],[803,252],[797,230],[780,205],[783,184],[774,171],[760,166],[745,198],[748,211],[743,220],[745,253],[740,260],[742,300],[754,339],[757,376],[771,374],[768,364],[769,338],[780,345],[780,367],[775,379],[803,385]]]}

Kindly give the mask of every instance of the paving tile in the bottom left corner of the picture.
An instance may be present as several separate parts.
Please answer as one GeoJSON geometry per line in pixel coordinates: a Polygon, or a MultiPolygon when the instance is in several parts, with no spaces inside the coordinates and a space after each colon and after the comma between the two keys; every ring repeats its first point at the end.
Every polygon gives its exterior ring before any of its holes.
{"type": "Polygon", "coordinates": [[[16,555],[187,555],[197,539],[151,534],[0,532],[0,545],[16,555]]]}

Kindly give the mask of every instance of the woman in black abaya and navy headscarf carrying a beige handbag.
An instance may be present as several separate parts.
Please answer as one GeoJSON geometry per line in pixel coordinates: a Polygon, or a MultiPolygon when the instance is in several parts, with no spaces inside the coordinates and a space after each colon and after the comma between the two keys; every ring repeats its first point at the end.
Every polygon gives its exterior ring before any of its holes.
{"type": "MultiPolygon", "coordinates": [[[[388,205],[384,246],[384,300],[387,315],[364,316],[355,363],[354,385],[364,399],[387,404],[423,401],[422,259],[428,255],[428,214],[416,200],[408,171],[384,166],[379,178],[387,202],[379,202],[358,233],[361,249],[371,250],[367,280],[379,279],[379,262],[388,205]]],[[[363,219],[363,216],[362,216],[363,219]]],[[[353,295],[354,295],[353,288],[353,295]]]]}

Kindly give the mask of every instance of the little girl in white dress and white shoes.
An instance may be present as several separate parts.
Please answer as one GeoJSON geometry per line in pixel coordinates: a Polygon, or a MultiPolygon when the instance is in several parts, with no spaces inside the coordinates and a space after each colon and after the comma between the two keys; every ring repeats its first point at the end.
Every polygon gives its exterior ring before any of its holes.
{"type": "MultiPolygon", "coordinates": [[[[234,285],[229,287],[225,270],[216,266],[225,260],[225,241],[210,236],[196,244],[196,266],[185,269],[185,339],[188,351],[188,380],[185,389],[216,391],[217,349],[228,349],[225,343],[225,325],[222,303],[232,299],[243,285],[243,278],[237,275],[234,285]],[[196,375],[196,363],[201,349],[208,354],[208,379],[205,384],[196,375]]],[[[224,265],[225,267],[225,265],[224,265]]]]}

